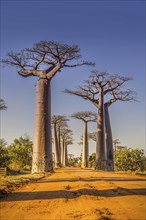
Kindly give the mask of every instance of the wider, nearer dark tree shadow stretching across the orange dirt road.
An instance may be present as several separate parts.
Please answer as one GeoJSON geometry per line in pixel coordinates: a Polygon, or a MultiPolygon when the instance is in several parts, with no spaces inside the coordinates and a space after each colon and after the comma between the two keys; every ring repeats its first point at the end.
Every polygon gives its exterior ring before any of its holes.
{"type": "Polygon", "coordinates": [[[146,189],[127,189],[115,188],[107,190],[97,190],[83,188],[79,190],[56,190],[56,191],[39,191],[39,192],[14,192],[7,197],[2,198],[3,202],[9,201],[29,201],[29,200],[49,200],[49,199],[74,199],[80,196],[94,197],[117,197],[129,195],[146,195],[146,189]]]}

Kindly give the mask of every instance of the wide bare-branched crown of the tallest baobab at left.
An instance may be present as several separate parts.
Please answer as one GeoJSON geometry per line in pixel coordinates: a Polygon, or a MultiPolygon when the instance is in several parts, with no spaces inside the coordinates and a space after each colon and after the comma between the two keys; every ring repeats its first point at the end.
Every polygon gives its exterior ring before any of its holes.
{"type": "Polygon", "coordinates": [[[20,53],[8,53],[2,63],[15,66],[18,74],[23,77],[38,76],[51,79],[64,67],[93,65],[92,62],[80,61],[81,58],[80,48],[77,45],[40,41],[32,48],[25,48],[20,53]],[[40,70],[42,65],[43,69],[40,70]]]}

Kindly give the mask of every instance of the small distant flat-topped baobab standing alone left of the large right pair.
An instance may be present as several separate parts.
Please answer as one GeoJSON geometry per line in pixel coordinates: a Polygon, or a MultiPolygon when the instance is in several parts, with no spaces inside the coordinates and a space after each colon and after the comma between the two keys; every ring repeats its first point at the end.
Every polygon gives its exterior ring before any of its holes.
{"type": "Polygon", "coordinates": [[[83,132],[83,150],[82,150],[82,168],[88,167],[88,122],[96,122],[96,114],[91,111],[86,112],[76,112],[71,115],[72,118],[82,120],[84,123],[84,132],[83,132]]]}

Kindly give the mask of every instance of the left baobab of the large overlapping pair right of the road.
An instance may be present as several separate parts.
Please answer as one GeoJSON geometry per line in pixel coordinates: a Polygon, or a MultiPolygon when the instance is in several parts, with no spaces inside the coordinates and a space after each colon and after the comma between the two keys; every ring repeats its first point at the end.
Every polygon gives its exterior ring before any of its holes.
{"type": "MultiPolygon", "coordinates": [[[[125,82],[130,80],[129,77],[110,75],[107,72],[92,71],[85,85],[79,86],[78,90],[65,90],[65,93],[77,95],[85,100],[90,101],[98,108],[97,115],[97,138],[96,138],[96,169],[107,169],[107,156],[105,149],[105,118],[104,118],[104,97],[125,82]]],[[[108,148],[108,146],[106,146],[108,148]]]]}

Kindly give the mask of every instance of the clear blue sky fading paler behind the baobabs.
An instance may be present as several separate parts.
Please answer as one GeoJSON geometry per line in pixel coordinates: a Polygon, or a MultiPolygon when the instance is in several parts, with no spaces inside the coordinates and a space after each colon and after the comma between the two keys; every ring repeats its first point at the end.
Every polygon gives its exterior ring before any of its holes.
{"type": "MultiPolygon", "coordinates": [[[[110,108],[113,138],[121,145],[145,147],[145,1],[7,1],[1,0],[1,57],[40,40],[77,44],[84,60],[96,66],[63,69],[52,80],[52,114],[97,111],[79,97],[62,93],[83,84],[92,69],[131,76],[127,86],[138,93],[138,103],[115,103],[110,108]]],[[[27,133],[33,138],[36,78],[22,78],[15,68],[1,67],[1,138],[10,144],[27,133]]],[[[69,153],[80,155],[81,121],[69,122],[75,143],[69,153]]],[[[96,124],[89,125],[95,131],[96,124]]],[[[90,141],[90,153],[95,143],[90,141]]]]}

